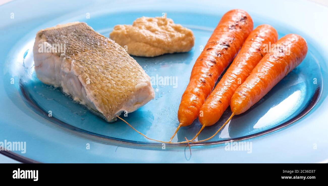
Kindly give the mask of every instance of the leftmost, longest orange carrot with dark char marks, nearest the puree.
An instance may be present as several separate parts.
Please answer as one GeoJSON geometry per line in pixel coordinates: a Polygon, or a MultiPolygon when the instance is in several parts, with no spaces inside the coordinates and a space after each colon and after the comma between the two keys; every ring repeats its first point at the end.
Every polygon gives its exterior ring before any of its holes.
{"type": "MultiPolygon", "coordinates": [[[[253,20],[244,10],[233,9],[225,13],[197,58],[190,82],[182,95],[178,110],[179,126],[188,126],[214,88],[217,78],[234,59],[243,42],[253,30],[253,20]]],[[[173,139],[174,135],[171,137],[173,139]]]]}

